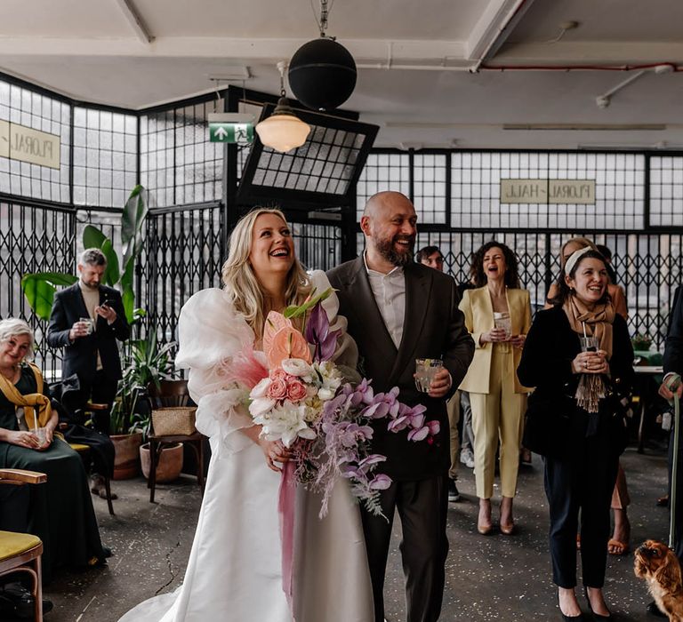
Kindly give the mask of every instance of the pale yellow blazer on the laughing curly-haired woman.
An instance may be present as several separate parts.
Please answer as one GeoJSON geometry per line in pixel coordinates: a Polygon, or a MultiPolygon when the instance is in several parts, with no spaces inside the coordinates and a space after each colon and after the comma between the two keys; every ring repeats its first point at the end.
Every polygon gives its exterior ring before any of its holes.
{"type": "MultiPolygon", "coordinates": [[[[506,289],[508,311],[513,335],[526,335],[531,328],[531,297],[526,290],[506,289]]],[[[494,328],[494,306],[486,285],[476,290],[465,290],[460,303],[460,310],[465,315],[465,326],[474,339],[474,359],[470,369],[462,380],[460,388],[472,393],[489,393],[491,376],[491,356],[494,344],[486,341],[479,344],[479,337],[494,328]]],[[[517,378],[517,367],[522,350],[512,347],[513,368],[515,370],[515,393],[529,393],[531,389],[523,387],[517,378]]]]}

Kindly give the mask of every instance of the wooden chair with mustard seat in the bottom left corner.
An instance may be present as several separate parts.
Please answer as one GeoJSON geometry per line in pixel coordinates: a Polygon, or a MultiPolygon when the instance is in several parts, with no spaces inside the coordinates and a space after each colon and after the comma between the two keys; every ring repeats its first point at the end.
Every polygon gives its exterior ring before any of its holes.
{"type": "MultiPolygon", "coordinates": [[[[0,484],[22,485],[47,481],[44,473],[20,469],[0,469],[0,484]]],[[[31,577],[31,595],[34,601],[34,619],[43,622],[43,581],[40,556],[43,543],[28,533],[0,531],[0,577],[13,572],[28,572],[31,577]]]]}

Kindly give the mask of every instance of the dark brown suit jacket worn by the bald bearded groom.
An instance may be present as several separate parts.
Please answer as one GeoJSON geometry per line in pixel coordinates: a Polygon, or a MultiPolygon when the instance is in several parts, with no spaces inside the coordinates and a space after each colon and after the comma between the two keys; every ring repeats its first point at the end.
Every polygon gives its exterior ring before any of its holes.
{"type": "Polygon", "coordinates": [[[415,388],[416,358],[442,358],[451,372],[451,394],[460,385],[474,353],[474,342],[464,326],[454,280],[438,270],[411,263],[406,275],[406,315],[400,346],[392,341],[375,302],[363,257],[327,273],[337,290],[340,315],[349,321],[349,333],[358,344],[361,375],[372,379],[374,392],[398,387],[401,402],[422,403],[426,416],[438,419],[440,432],[432,443],[407,440],[406,431],[387,431],[387,420],[374,424],[372,451],[387,456],[378,472],[396,481],[419,480],[443,474],[450,466],[446,396],[434,399],[415,388]]]}

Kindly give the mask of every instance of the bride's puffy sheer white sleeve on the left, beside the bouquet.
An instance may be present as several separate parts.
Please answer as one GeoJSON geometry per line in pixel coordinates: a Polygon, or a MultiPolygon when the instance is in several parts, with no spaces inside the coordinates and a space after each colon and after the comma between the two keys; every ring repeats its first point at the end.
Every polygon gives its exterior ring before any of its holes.
{"type": "Polygon", "coordinates": [[[197,403],[197,430],[218,437],[220,451],[234,453],[252,441],[239,432],[253,426],[244,406],[248,390],[228,377],[232,357],[253,346],[253,331],[226,293],[198,291],[182,307],[175,366],[189,369],[189,395],[197,403]]]}

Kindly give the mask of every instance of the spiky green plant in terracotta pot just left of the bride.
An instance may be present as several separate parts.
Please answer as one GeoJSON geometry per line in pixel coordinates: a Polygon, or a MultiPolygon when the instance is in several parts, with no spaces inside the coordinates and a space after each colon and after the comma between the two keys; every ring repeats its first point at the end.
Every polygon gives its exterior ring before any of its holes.
{"type": "Polygon", "coordinates": [[[116,449],[114,479],[138,474],[141,444],[149,435],[151,411],[147,387],[171,377],[170,351],[174,343],[159,347],[157,334],[133,339],[125,345],[124,373],[119,381],[117,399],[111,411],[111,440],[116,449]]]}

